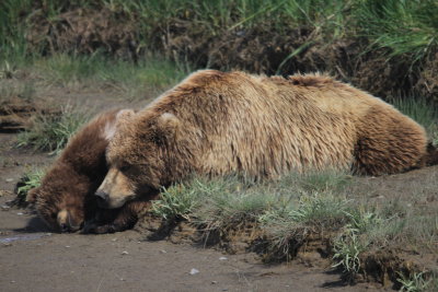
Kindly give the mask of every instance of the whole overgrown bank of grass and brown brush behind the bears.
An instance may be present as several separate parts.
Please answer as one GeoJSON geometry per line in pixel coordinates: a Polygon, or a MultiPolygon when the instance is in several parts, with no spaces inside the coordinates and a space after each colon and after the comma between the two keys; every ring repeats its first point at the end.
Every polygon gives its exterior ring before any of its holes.
{"type": "Polygon", "coordinates": [[[159,52],[185,70],[327,71],[383,98],[437,102],[436,15],[436,0],[3,0],[0,65],[159,52]]]}

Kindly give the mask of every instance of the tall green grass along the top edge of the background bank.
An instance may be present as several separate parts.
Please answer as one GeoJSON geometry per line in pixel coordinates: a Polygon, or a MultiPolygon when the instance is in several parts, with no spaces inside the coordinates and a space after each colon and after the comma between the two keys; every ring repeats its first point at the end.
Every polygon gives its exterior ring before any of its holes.
{"type": "Polygon", "coordinates": [[[138,48],[154,47],[157,28],[171,20],[189,21],[194,30],[217,36],[227,30],[269,24],[276,33],[309,27],[312,37],[334,40],[338,37],[366,37],[372,48],[387,48],[389,58],[408,56],[413,62],[424,60],[438,46],[438,3],[435,0],[77,0],[0,2],[0,61],[5,56],[23,56],[25,34],[32,23],[26,20],[38,10],[42,17],[71,8],[106,8],[136,22],[138,48]]]}

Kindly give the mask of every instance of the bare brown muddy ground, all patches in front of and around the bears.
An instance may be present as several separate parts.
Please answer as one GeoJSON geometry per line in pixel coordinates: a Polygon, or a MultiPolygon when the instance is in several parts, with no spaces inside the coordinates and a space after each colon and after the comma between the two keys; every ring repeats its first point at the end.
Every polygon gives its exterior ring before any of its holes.
{"type": "MultiPolygon", "coordinates": [[[[147,96],[143,101],[128,103],[117,94],[103,92],[48,92],[44,95],[47,100],[85,103],[88,108],[97,109],[139,107],[148,100],[147,96]]],[[[16,182],[28,167],[48,165],[53,161],[44,153],[14,149],[15,139],[15,133],[0,133],[1,291],[390,290],[376,282],[345,284],[341,272],[331,267],[330,259],[266,265],[251,253],[228,255],[187,242],[149,241],[141,227],[106,235],[50,233],[31,210],[7,206],[15,197],[16,182]],[[191,275],[192,269],[198,272],[191,275]]],[[[370,189],[365,191],[370,199],[411,196],[415,184],[437,177],[438,168],[430,167],[399,176],[364,178],[362,186],[370,189]]]]}

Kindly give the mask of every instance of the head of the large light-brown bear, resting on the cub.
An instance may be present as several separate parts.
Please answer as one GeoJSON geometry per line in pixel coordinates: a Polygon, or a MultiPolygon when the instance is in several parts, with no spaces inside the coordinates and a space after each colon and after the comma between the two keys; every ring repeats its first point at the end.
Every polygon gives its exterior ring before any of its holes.
{"type": "Polygon", "coordinates": [[[180,119],[171,113],[122,110],[114,136],[108,137],[110,171],[95,192],[99,206],[119,208],[136,198],[153,197],[172,183],[178,167],[170,165],[181,148],[180,128],[180,119]]]}

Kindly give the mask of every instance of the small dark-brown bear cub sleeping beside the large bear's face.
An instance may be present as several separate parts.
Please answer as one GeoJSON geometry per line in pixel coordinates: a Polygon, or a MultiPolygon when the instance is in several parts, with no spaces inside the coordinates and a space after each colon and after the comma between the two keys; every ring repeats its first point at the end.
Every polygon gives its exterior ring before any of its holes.
{"type": "Polygon", "coordinates": [[[28,192],[27,201],[35,203],[37,213],[50,229],[74,232],[88,220],[87,232],[122,231],[132,226],[147,207],[141,201],[132,201],[120,210],[99,212],[93,196],[108,171],[105,160],[107,130],[114,129],[113,124],[120,113],[123,110],[101,114],[79,130],[42,185],[28,192]]]}

